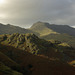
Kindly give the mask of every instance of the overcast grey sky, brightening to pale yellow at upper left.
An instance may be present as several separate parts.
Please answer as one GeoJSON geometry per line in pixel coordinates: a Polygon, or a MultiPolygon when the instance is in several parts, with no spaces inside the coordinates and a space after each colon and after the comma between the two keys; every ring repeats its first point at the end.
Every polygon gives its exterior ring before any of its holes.
{"type": "Polygon", "coordinates": [[[38,21],[75,26],[75,0],[0,0],[0,23],[27,28],[38,21]]]}

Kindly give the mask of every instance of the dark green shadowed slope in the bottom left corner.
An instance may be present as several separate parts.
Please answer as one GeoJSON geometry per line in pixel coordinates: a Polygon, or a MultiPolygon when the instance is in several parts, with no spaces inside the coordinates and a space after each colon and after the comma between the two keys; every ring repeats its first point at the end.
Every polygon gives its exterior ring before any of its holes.
{"type": "Polygon", "coordinates": [[[12,55],[10,50],[8,51],[5,46],[3,46],[3,49],[1,46],[0,51],[2,52],[0,52],[0,75],[23,75],[24,71],[26,72],[25,68],[11,58],[12,55]],[[8,51],[7,54],[4,54],[4,52],[6,52],[5,50],[8,51]],[[8,57],[8,55],[10,56],[8,57]]]}

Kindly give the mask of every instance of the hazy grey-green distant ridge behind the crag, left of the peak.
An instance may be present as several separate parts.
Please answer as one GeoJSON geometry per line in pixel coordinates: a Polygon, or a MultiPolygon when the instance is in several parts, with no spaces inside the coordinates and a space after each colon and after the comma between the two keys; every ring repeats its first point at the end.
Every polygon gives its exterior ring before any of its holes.
{"type": "Polygon", "coordinates": [[[0,23],[0,34],[12,33],[32,33],[32,31],[10,24],[4,25],[0,23]]]}

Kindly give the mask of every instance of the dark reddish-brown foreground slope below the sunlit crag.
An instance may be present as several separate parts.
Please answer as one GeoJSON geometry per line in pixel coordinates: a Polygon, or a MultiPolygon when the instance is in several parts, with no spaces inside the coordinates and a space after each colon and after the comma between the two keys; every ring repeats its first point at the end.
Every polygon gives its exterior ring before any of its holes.
{"type": "MultiPolygon", "coordinates": [[[[0,63],[0,75],[74,75],[75,68],[61,60],[49,59],[46,56],[33,55],[25,50],[0,44],[2,55],[19,64],[19,67],[8,67],[4,62],[0,63]],[[16,69],[15,69],[16,68],[16,69]],[[20,73],[19,73],[20,72],[20,73]]],[[[8,59],[7,58],[7,59],[8,59]]],[[[11,64],[12,65],[12,64],[11,64]]]]}

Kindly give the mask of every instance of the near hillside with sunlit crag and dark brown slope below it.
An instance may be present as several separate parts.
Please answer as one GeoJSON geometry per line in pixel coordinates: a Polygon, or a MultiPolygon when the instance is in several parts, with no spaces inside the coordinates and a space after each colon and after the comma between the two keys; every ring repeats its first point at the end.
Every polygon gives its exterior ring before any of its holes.
{"type": "Polygon", "coordinates": [[[67,43],[34,34],[0,35],[0,61],[23,75],[74,75],[74,60],[75,49],[67,43]]]}

